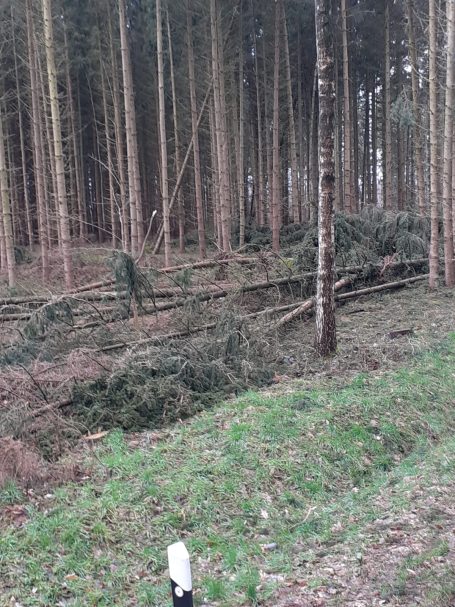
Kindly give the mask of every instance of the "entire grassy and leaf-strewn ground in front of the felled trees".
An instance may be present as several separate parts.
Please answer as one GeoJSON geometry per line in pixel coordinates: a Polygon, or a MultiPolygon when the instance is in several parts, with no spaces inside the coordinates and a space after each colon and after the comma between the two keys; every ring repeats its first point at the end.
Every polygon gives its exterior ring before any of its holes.
{"type": "Polygon", "coordinates": [[[423,286],[349,302],[325,362],[296,322],[275,385],[81,440],[76,482],[7,483],[0,605],[168,607],[177,539],[196,605],[455,605],[454,303],[423,286]]]}

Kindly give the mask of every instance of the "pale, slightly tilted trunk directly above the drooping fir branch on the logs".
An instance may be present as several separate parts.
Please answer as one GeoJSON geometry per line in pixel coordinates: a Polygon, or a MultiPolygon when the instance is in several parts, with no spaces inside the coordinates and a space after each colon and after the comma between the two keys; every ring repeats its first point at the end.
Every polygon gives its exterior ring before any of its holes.
{"type": "Polygon", "coordinates": [[[125,101],[125,132],[128,163],[128,191],[131,215],[131,254],[135,257],[142,248],[144,225],[142,216],[142,187],[139,172],[139,151],[137,144],[136,108],[134,105],[133,74],[128,27],[126,21],[126,0],[119,0],[120,44],[123,70],[123,95],[125,101]]]}

